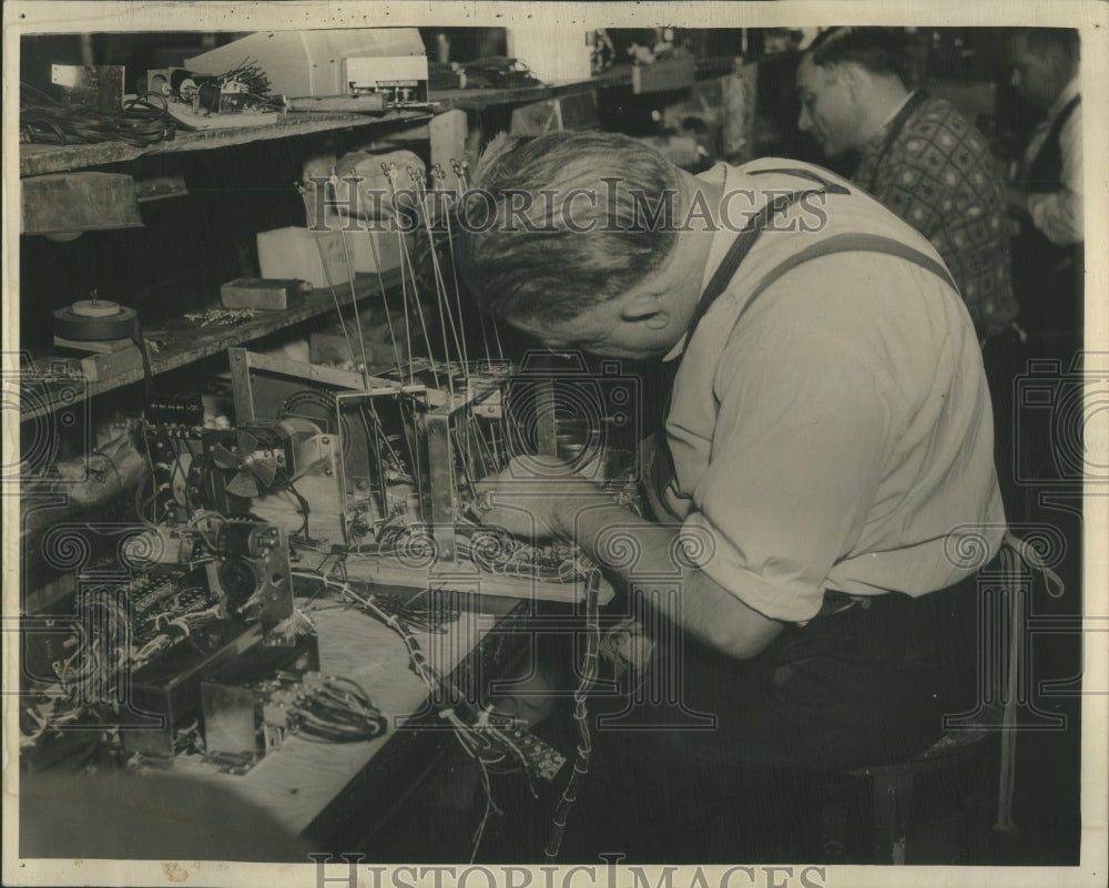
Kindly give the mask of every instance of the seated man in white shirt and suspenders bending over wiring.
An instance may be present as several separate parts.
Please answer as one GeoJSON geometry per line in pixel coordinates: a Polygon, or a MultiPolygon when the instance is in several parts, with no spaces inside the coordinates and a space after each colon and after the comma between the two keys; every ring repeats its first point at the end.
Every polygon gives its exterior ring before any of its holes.
{"type": "Polygon", "coordinates": [[[475,186],[496,215],[460,265],[486,310],[675,369],[647,394],[670,399],[655,520],[553,461],[486,484],[487,523],[573,540],[625,586],[694,543],[678,594],[631,584],[678,627],[653,641],[681,700],[593,732],[567,851],[709,854],[769,775],[895,761],[974,708],[975,570],[1005,516],[981,351],[927,239],[816,166],[693,176],[603,133],[500,137],[475,186]],[[606,551],[615,529],[637,558],[606,551]]]}

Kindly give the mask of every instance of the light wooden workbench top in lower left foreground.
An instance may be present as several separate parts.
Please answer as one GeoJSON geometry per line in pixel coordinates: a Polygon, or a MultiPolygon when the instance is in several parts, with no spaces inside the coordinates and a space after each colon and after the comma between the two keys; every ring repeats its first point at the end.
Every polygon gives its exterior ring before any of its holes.
{"type": "MultiPolygon", "coordinates": [[[[445,634],[418,635],[428,660],[466,692],[503,670],[526,641],[512,631],[526,619],[525,604],[470,603],[445,634]]],[[[12,787],[20,796],[21,857],[307,863],[316,850],[365,849],[388,858],[389,849],[370,837],[390,825],[455,741],[425,706],[427,690],[408,668],[399,636],[330,598],[307,606],[322,672],[363,686],[389,719],[383,736],[358,743],[288,736],[243,775],[187,754],[165,772],[59,766],[22,774],[12,787]]],[[[419,840],[406,847],[418,854],[419,840]]]]}

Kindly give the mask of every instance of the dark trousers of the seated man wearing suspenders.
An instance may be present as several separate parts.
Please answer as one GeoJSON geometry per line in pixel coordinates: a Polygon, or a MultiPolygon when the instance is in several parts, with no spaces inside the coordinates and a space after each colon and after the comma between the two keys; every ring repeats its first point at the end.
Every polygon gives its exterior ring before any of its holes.
{"type": "Polygon", "coordinates": [[[804,797],[791,787],[927,748],[945,714],[974,708],[976,589],[970,576],[920,599],[876,596],[787,626],[749,661],[685,639],[676,660],[660,650],[680,705],[591,702],[592,765],[560,859],[753,859],[771,810],[798,829],[811,819],[803,802],[791,809],[804,797]]]}

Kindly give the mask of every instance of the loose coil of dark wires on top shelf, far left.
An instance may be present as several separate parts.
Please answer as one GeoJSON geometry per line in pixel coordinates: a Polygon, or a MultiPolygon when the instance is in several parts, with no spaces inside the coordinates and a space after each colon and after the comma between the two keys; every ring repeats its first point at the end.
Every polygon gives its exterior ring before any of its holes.
{"type": "Polygon", "coordinates": [[[43,145],[126,142],[136,147],[173,139],[177,127],[159,95],[131,99],[123,110],[105,114],[91,105],[53,99],[29,83],[20,83],[19,141],[43,145]],[[152,101],[153,100],[153,101],[152,101]]]}

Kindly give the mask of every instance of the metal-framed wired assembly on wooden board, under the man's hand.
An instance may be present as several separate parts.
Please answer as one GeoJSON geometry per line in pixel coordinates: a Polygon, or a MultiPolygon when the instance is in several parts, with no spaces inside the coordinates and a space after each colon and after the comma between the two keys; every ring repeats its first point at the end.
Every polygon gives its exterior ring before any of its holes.
{"type": "MultiPolygon", "coordinates": [[[[367,378],[246,349],[230,349],[228,355],[241,421],[278,415],[315,422],[302,411],[309,400],[314,409],[333,414],[328,425],[335,432],[328,438],[338,518],[348,549],[374,557],[359,560],[359,571],[368,571],[365,575],[400,586],[580,600],[574,550],[500,545],[496,534],[471,520],[468,504],[476,482],[502,469],[512,452],[562,452],[576,465],[600,468],[603,460],[593,458],[604,436],[573,420],[581,414],[599,422],[625,420],[615,409],[630,397],[625,377],[606,367],[598,382],[597,374],[578,368],[569,395],[556,386],[547,401],[529,412],[519,401],[549,391],[551,371],[530,368],[516,386],[505,363],[475,368],[425,359],[427,371],[409,361],[407,372],[367,378]],[[426,378],[433,366],[439,381],[447,375],[451,390],[433,387],[426,378]],[[318,386],[338,390],[316,394],[318,386]],[[521,418],[528,428],[507,428],[521,418]]],[[[611,586],[603,594],[611,596],[611,586]]]]}

